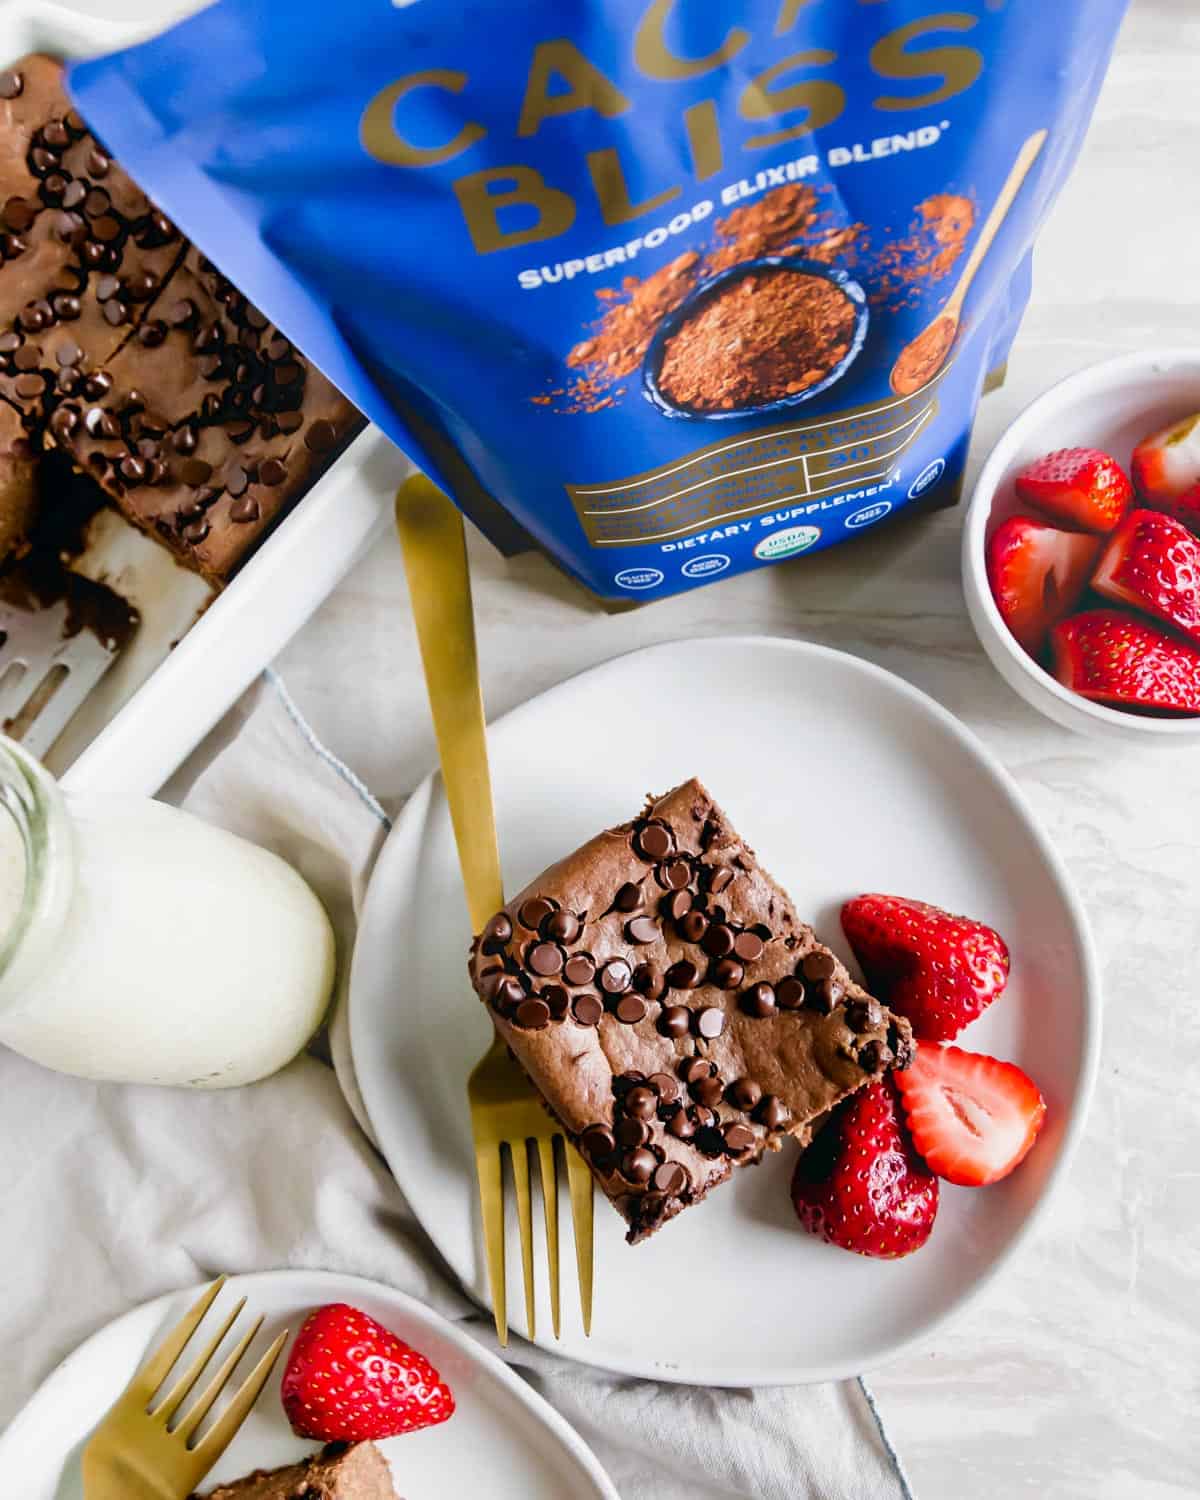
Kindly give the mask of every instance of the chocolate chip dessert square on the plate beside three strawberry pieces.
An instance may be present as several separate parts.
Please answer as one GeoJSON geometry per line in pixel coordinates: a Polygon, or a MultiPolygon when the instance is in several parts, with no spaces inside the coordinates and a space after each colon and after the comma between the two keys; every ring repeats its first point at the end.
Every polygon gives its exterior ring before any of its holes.
{"type": "Polygon", "coordinates": [[[696,780],[540,874],[470,968],[630,1244],[914,1056],[696,780]]]}

